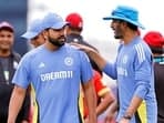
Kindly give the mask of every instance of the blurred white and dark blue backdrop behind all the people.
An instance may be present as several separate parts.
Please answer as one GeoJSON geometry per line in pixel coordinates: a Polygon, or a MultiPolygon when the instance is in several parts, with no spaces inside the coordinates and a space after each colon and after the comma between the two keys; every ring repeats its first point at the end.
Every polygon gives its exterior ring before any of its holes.
{"type": "Polygon", "coordinates": [[[113,61],[117,41],[113,38],[110,21],[103,21],[102,18],[111,14],[117,4],[132,6],[140,11],[140,21],[146,28],[141,30],[141,35],[148,30],[164,31],[164,7],[161,0],[0,0],[0,21],[13,24],[14,50],[23,55],[31,47],[20,35],[33,19],[42,18],[50,11],[63,18],[70,12],[79,12],[84,20],[84,39],[96,47],[109,61],[113,61]]]}

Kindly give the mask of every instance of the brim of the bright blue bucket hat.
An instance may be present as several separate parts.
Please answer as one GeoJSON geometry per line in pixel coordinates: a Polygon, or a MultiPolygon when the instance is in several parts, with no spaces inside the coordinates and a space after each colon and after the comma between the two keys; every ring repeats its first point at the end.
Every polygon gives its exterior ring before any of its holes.
{"type": "Polygon", "coordinates": [[[140,22],[136,22],[136,21],[132,21],[130,19],[126,19],[126,18],[121,18],[121,17],[116,17],[116,16],[111,16],[111,17],[105,17],[103,18],[103,20],[113,20],[113,19],[119,19],[119,20],[124,20],[124,21],[127,21],[136,27],[140,27],[141,29],[145,29],[140,22]]]}

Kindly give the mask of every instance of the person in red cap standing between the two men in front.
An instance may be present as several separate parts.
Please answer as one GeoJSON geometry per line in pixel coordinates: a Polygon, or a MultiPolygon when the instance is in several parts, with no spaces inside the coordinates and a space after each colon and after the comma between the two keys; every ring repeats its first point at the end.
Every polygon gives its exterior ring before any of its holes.
{"type": "MultiPolygon", "coordinates": [[[[93,45],[91,45],[90,43],[84,41],[84,39],[81,34],[83,31],[83,19],[79,13],[76,13],[76,12],[69,13],[65,18],[65,21],[69,22],[69,25],[66,28],[66,42],[68,43],[74,42],[74,43],[84,44],[84,45],[91,47],[98,51],[96,48],[94,48],[93,45]]],[[[102,82],[102,71],[99,69],[99,66],[95,64],[95,62],[91,58],[90,58],[90,62],[91,62],[91,65],[94,70],[93,85],[94,85],[94,89],[96,92],[96,99],[98,99],[98,101],[96,101],[96,103],[98,103],[96,116],[99,117],[102,113],[104,113],[104,111],[106,111],[106,109],[110,106],[110,104],[114,102],[114,96],[113,96],[111,90],[109,90],[109,88],[106,85],[104,85],[102,82]]],[[[88,112],[88,107],[85,105],[84,99],[85,98],[83,96],[83,92],[81,89],[80,109],[81,109],[82,116],[86,121],[86,119],[89,116],[89,112],[88,112]],[[83,100],[81,100],[81,98],[83,100]]],[[[100,120],[98,119],[98,121],[100,121],[100,120]]]]}

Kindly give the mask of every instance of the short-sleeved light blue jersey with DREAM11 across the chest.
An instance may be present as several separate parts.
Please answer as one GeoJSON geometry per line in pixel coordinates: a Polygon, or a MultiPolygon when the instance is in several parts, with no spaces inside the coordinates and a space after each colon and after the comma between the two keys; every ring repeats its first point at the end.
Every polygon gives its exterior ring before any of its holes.
{"type": "Polygon", "coordinates": [[[84,52],[69,44],[57,51],[41,45],[22,58],[12,82],[24,89],[32,82],[40,123],[80,123],[80,82],[92,74],[84,52]]]}

